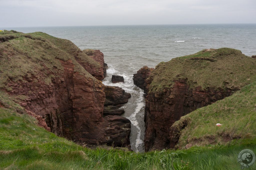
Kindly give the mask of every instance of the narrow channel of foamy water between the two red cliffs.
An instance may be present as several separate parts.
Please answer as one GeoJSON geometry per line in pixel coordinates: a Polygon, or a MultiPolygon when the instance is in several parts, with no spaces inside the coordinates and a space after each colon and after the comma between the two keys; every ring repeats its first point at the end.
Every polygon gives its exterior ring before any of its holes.
{"type": "Polygon", "coordinates": [[[102,83],[105,86],[118,86],[131,94],[131,98],[121,108],[124,109],[122,116],[131,121],[131,133],[130,143],[131,149],[135,152],[144,152],[144,134],[145,134],[145,123],[144,123],[144,92],[133,83],[133,75],[125,74],[114,69],[114,66],[109,66],[107,69],[107,76],[104,78],[102,83]],[[124,83],[112,83],[112,75],[121,75],[124,77],[124,83]]]}

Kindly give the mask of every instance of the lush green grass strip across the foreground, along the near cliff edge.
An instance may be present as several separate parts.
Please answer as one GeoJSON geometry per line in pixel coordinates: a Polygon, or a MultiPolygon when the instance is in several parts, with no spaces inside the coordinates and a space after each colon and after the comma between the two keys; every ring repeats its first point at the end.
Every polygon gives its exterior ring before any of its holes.
{"type": "MultiPolygon", "coordinates": [[[[12,97],[0,92],[0,169],[240,169],[243,149],[256,153],[256,140],[237,144],[134,153],[90,149],[37,126],[12,97]],[[19,113],[18,113],[19,112],[19,113]]],[[[255,169],[256,164],[249,169],[255,169]]]]}

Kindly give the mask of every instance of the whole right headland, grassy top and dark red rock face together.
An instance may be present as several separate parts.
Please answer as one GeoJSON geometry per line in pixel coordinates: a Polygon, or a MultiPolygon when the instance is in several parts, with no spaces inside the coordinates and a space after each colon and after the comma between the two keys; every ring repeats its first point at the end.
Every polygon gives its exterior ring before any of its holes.
{"type": "Polygon", "coordinates": [[[152,71],[138,70],[134,84],[146,93],[145,151],[174,148],[187,124],[171,128],[175,121],[251,83],[255,69],[255,61],[241,51],[220,48],[161,62],[152,71]]]}

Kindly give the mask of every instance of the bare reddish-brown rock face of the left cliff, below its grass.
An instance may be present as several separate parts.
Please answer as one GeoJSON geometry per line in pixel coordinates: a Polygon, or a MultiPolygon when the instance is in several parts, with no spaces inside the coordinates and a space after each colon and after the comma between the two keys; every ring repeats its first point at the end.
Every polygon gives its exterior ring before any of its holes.
{"type": "MultiPolygon", "coordinates": [[[[38,120],[39,126],[58,136],[90,145],[129,145],[129,120],[103,118],[104,85],[89,74],[75,72],[71,60],[60,61],[64,72],[58,78],[52,78],[49,85],[40,79],[36,83],[9,83],[13,89],[9,94],[26,95],[26,102],[21,104],[38,120]]],[[[113,93],[127,97],[121,88],[114,89],[118,92],[113,93]]],[[[111,96],[116,104],[128,100],[111,96]]]]}

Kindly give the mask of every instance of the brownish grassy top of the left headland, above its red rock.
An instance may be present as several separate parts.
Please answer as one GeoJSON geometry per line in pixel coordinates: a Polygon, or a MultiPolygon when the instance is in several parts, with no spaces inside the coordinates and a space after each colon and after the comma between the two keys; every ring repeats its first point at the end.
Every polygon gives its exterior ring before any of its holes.
{"type": "Polygon", "coordinates": [[[93,79],[76,59],[96,68],[101,67],[70,40],[42,32],[0,32],[0,88],[5,88],[9,79],[17,82],[25,81],[23,78],[26,77],[37,81],[34,77],[37,74],[49,83],[51,77],[63,72],[59,60],[72,60],[76,72],[93,79]]]}

